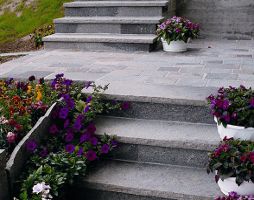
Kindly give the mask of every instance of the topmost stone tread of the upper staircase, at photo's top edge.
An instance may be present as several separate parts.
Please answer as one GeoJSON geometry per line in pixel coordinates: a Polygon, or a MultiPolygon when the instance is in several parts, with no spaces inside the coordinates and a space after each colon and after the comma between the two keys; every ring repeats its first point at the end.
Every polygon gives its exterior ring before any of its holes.
{"type": "Polygon", "coordinates": [[[65,3],[64,7],[111,7],[111,6],[131,6],[131,7],[162,7],[166,6],[168,1],[76,1],[65,3]]]}

